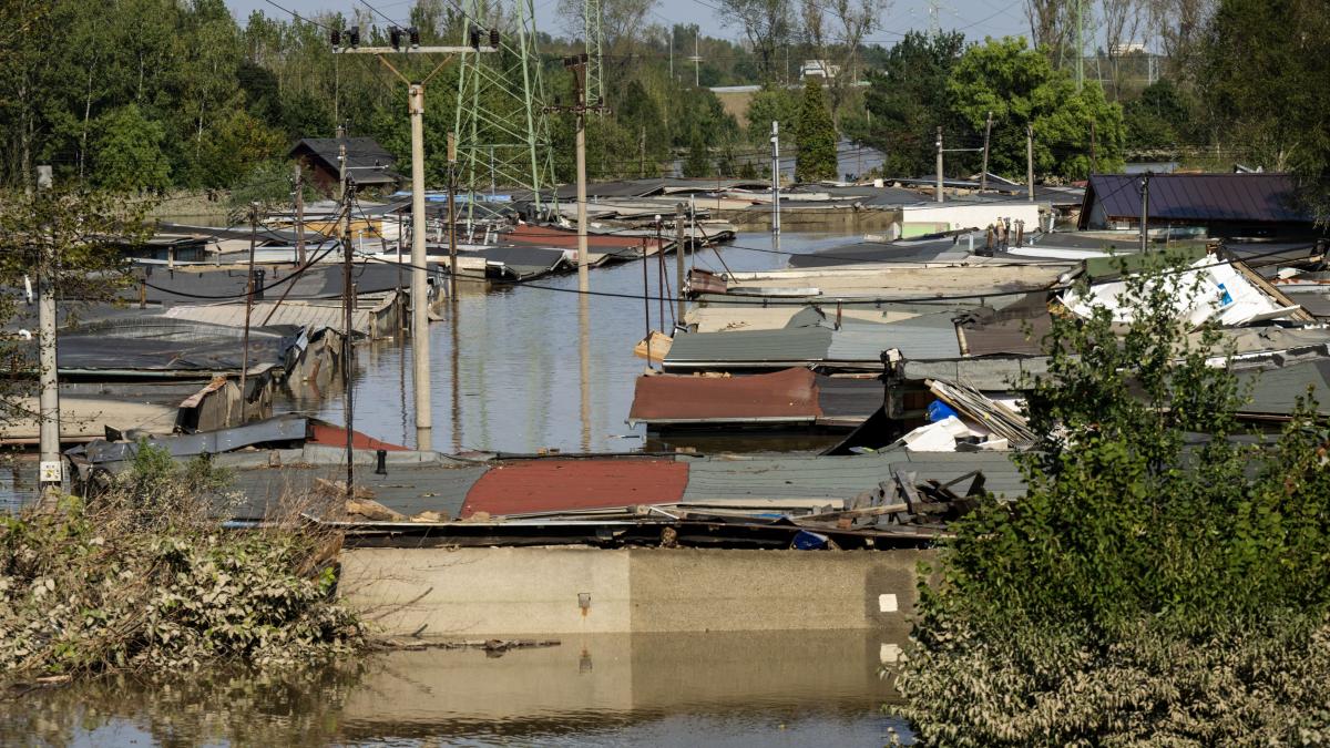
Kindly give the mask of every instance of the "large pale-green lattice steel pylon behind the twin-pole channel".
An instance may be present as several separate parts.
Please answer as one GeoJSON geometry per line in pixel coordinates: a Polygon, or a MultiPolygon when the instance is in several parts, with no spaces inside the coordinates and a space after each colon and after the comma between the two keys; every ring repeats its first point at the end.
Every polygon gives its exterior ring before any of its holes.
{"type": "MultiPolygon", "coordinates": [[[[499,25],[501,1],[462,0],[468,28],[463,44],[473,44],[479,31],[499,25]]],[[[544,112],[545,84],[536,51],[536,15],[532,0],[513,0],[509,24],[501,28],[497,55],[464,55],[458,76],[458,180],[472,192],[525,188],[535,193],[536,209],[545,202],[540,190],[555,186],[555,160],[549,120],[544,112]]],[[[468,204],[467,214],[471,214],[468,204]]]]}

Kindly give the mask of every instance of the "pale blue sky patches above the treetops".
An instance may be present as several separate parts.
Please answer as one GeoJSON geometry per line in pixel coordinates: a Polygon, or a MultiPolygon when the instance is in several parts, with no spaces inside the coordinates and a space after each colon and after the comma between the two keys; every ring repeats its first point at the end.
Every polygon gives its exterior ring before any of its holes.
{"type": "MultiPolygon", "coordinates": [[[[297,13],[319,11],[350,12],[359,7],[360,0],[274,0],[278,5],[297,13]]],[[[376,9],[392,19],[403,19],[412,0],[368,0],[376,9]]],[[[910,29],[927,31],[930,27],[928,0],[888,0],[882,28],[872,33],[870,41],[890,45],[910,29]]],[[[251,11],[259,9],[271,17],[286,16],[265,0],[227,0],[231,12],[241,23],[251,11]]],[[[650,23],[698,24],[706,36],[738,39],[738,28],[722,27],[716,23],[716,0],[658,0],[650,16],[650,23]]],[[[1025,20],[1024,0],[940,0],[938,25],[943,31],[960,31],[968,39],[984,36],[1028,36],[1029,24],[1025,20]]],[[[536,0],[536,27],[555,36],[561,28],[555,13],[559,0],[536,0]]]]}

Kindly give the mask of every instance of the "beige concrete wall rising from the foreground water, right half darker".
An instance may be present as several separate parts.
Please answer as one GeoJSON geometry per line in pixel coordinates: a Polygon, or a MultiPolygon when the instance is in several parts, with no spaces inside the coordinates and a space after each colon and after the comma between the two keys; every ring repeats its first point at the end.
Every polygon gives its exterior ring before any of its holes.
{"type": "Polygon", "coordinates": [[[882,630],[930,551],[356,548],[340,594],[384,634],[882,630]],[[423,628],[423,630],[422,630],[423,628]]]}

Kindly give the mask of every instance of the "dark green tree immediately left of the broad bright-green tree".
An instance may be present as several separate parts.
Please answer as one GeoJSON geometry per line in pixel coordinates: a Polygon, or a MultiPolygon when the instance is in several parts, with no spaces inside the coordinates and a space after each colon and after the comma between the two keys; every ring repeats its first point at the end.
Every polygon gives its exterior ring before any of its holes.
{"type": "Polygon", "coordinates": [[[868,72],[866,106],[872,124],[854,137],[886,153],[884,174],[927,174],[934,165],[934,128],[943,125],[948,137],[959,134],[947,79],[964,47],[960,32],[911,31],[886,53],[879,71],[868,72]]]}

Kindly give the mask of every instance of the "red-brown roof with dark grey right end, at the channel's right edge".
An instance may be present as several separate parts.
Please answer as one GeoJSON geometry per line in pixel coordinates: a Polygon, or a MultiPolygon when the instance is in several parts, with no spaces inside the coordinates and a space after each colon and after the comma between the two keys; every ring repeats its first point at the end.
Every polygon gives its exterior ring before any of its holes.
{"type": "Polygon", "coordinates": [[[882,407],[876,379],[838,379],[809,369],[745,377],[638,377],[629,425],[853,425],[882,407]]]}

